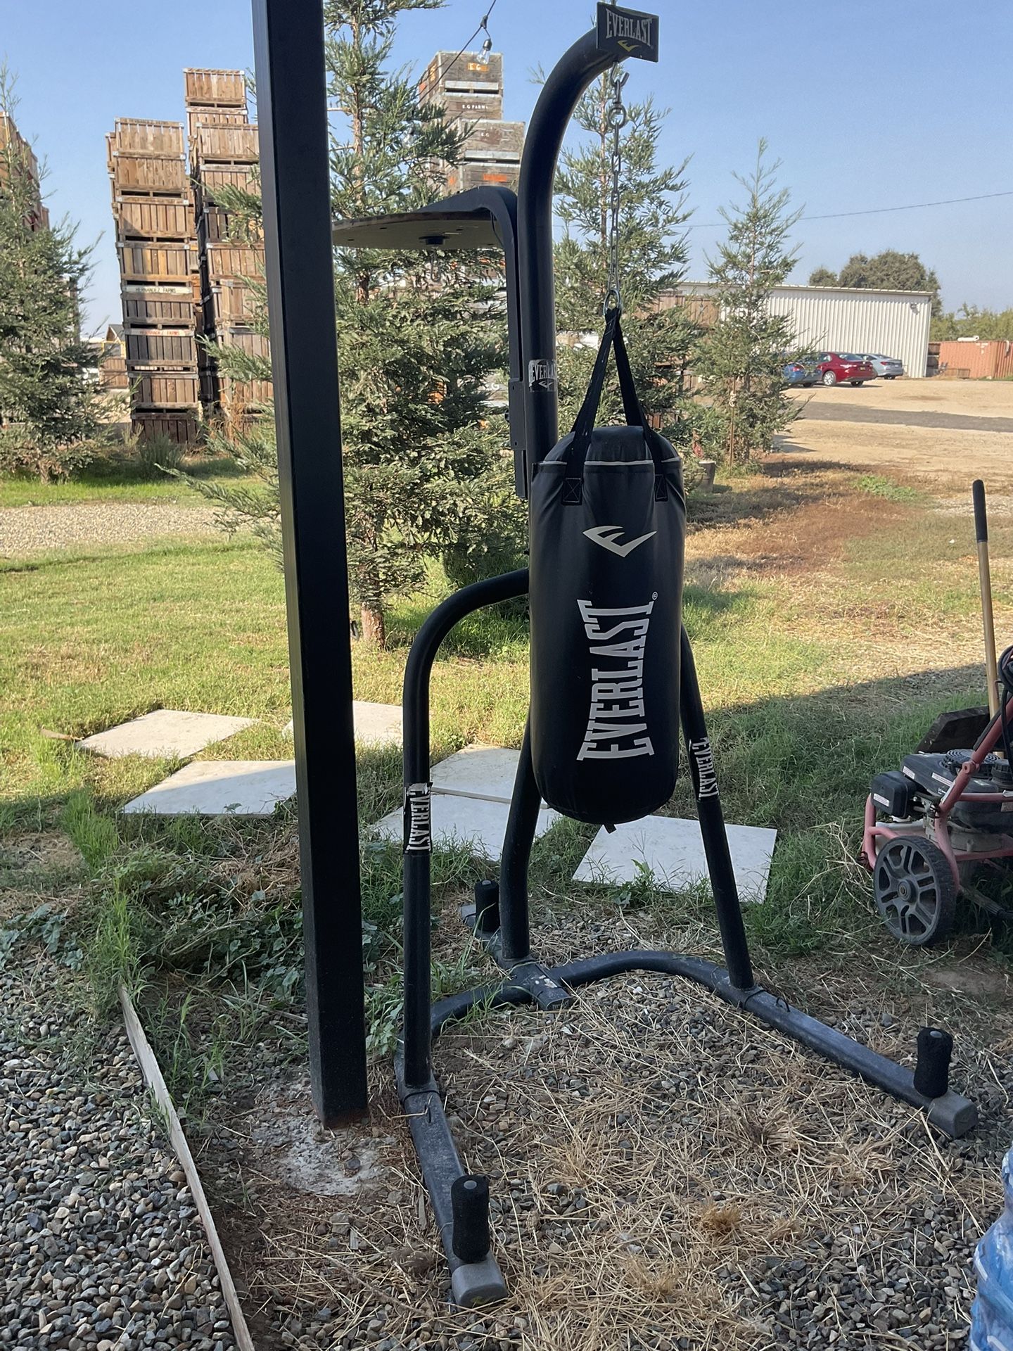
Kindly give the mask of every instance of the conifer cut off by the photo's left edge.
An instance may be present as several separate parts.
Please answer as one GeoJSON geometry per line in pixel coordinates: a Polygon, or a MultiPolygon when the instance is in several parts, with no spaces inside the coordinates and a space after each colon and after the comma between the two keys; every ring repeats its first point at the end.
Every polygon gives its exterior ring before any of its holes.
{"type": "Polygon", "coordinates": [[[100,400],[80,299],[90,247],[68,220],[49,226],[28,147],[14,128],[14,81],[0,68],[0,469],[43,481],[90,459],[100,400]]]}

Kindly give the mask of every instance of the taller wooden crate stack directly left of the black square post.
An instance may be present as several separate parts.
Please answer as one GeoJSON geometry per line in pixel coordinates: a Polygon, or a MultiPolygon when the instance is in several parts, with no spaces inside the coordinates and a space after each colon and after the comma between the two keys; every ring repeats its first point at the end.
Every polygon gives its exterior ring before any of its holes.
{"type": "Polygon", "coordinates": [[[236,227],[219,201],[222,188],[257,189],[257,127],[246,111],[242,70],[185,70],[196,232],[200,250],[201,400],[228,419],[257,412],[271,396],[270,381],[236,381],[219,373],[208,343],[267,357],[267,339],[254,328],[263,277],[259,236],[236,227]],[[253,285],[251,285],[253,282],[253,285]]]}

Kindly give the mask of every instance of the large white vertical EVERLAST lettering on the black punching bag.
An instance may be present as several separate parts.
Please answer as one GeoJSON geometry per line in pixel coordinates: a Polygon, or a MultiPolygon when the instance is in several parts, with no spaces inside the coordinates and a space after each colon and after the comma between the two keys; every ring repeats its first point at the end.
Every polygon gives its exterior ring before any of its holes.
{"type": "Polygon", "coordinates": [[[577,601],[592,644],[592,658],[606,659],[601,666],[592,661],[590,712],[578,761],[654,755],[643,719],[644,648],[656,598],[655,592],[646,605],[620,609],[604,609],[589,600],[577,601]]]}

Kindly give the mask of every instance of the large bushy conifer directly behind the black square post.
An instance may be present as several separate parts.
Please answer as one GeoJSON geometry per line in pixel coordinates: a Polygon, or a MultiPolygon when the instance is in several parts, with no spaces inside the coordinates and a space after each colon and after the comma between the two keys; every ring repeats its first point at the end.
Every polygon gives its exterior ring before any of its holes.
{"type": "MultiPolygon", "coordinates": [[[[401,14],[442,0],[328,0],[328,95],[335,216],[413,211],[444,193],[444,165],[463,136],[415,82],[390,66],[401,14]]],[[[255,197],[232,200],[249,219],[255,197]]],[[[223,205],[230,201],[222,196],[223,205]]],[[[388,597],[415,585],[425,557],[516,543],[520,515],[504,492],[505,426],[489,426],[486,384],[504,365],[494,303],[498,261],[380,250],[335,251],[342,440],[350,589],[363,638],[385,642],[388,597]]],[[[223,370],[255,376],[250,358],[219,351],[223,370]],[[243,372],[246,370],[246,374],[243,372]]],[[[228,523],[280,534],[273,428],[240,430],[234,454],[255,474],[212,493],[228,523]]]]}

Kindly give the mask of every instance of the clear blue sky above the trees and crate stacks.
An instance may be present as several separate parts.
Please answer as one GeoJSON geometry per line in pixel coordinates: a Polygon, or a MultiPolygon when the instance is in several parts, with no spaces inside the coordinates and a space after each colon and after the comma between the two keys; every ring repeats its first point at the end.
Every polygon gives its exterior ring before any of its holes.
{"type": "MultiPolygon", "coordinates": [[[[296,3],[296,0],[293,0],[296,3]]],[[[690,154],[696,220],[690,276],[719,231],[702,228],[735,192],[766,135],[793,201],[816,213],[860,211],[1013,189],[1006,111],[1013,62],[1010,0],[848,0],[831,7],[758,0],[673,4],[662,14],[662,62],[631,62],[631,96],[671,107],[665,154],[690,154]]],[[[497,0],[506,116],[525,119],[529,74],[589,26],[588,0],[497,0]]],[[[424,65],[457,50],[482,14],[448,0],[409,15],[398,58],[424,65]]],[[[0,0],[0,57],[19,77],[22,131],[49,163],[55,215],[103,235],[89,327],[119,317],[104,134],[113,119],[182,119],[184,66],[253,63],[247,0],[0,0]]],[[[1013,305],[1013,196],[893,215],[804,222],[794,280],[851,253],[913,250],[939,273],[947,308],[1013,305]]]]}

